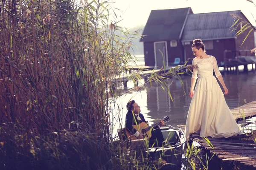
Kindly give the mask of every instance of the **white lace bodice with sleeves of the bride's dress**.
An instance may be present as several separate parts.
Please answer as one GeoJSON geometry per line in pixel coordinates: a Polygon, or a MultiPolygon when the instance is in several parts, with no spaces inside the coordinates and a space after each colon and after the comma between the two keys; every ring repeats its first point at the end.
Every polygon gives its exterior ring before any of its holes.
{"type": "Polygon", "coordinates": [[[192,78],[197,79],[198,77],[209,77],[210,75],[213,75],[213,70],[216,77],[221,75],[218,69],[217,60],[213,56],[204,59],[197,59],[195,57],[192,64],[194,66],[192,78]]]}

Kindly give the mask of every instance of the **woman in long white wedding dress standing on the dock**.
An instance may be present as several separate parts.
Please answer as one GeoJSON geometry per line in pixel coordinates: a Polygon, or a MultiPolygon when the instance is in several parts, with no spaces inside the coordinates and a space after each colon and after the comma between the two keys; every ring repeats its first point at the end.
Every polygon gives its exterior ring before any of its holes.
{"type": "Polygon", "coordinates": [[[193,74],[189,93],[192,100],[186,119],[186,139],[189,140],[191,133],[198,133],[203,137],[236,136],[241,127],[236,123],[225,101],[224,94],[228,94],[228,89],[218,70],[215,57],[205,53],[204,44],[200,39],[193,41],[192,50],[195,58],[192,61],[193,74]],[[224,94],[213,76],[213,70],[224,88],[224,94]]]}

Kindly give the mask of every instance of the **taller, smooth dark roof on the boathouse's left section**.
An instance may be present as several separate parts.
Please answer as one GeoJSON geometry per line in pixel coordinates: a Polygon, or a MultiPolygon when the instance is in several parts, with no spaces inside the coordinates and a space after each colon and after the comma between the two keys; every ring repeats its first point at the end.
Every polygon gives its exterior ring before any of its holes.
{"type": "Polygon", "coordinates": [[[140,42],[180,39],[184,21],[190,8],[152,10],[140,42]]]}

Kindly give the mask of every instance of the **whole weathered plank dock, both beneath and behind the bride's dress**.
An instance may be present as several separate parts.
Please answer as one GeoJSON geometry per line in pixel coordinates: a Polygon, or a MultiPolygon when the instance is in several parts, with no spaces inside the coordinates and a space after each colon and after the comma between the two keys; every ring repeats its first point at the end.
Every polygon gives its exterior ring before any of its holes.
{"type": "MultiPolygon", "coordinates": [[[[256,116],[256,101],[247,103],[239,108],[231,109],[231,112],[237,122],[242,122],[244,119],[252,119],[256,116]]],[[[253,121],[245,121],[241,125],[244,125],[244,127],[247,128],[247,125],[253,124],[253,130],[256,130],[255,123],[254,119],[253,121]]],[[[185,125],[179,125],[178,127],[184,129],[185,125]]],[[[252,132],[253,130],[247,132],[252,132]]],[[[215,164],[209,165],[213,166],[213,169],[222,167],[223,170],[230,170],[234,167],[238,167],[238,170],[256,170],[255,137],[256,136],[254,136],[252,140],[251,137],[245,133],[241,133],[238,136],[230,138],[209,137],[208,139],[212,143],[213,148],[210,147],[198,134],[191,134],[190,140],[201,144],[201,147],[204,148],[208,156],[211,157],[214,154],[214,158],[219,161],[219,164],[216,164],[215,162],[215,164]]]]}

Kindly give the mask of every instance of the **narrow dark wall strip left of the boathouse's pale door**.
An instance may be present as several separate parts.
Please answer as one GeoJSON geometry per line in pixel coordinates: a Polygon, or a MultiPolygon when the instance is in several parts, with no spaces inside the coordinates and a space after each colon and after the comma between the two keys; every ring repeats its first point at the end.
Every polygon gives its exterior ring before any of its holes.
{"type": "Polygon", "coordinates": [[[143,42],[145,66],[154,66],[154,42],[143,42]]]}

